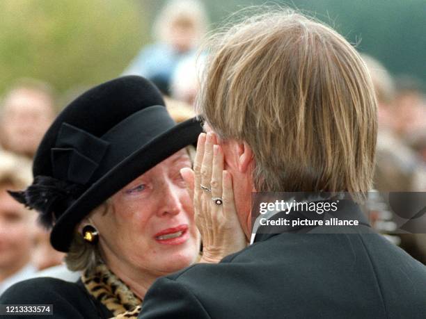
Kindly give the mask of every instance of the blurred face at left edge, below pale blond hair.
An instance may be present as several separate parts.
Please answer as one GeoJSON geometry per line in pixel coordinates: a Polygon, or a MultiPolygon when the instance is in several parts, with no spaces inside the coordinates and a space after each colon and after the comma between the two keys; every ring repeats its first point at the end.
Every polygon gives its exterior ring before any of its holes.
{"type": "Polygon", "coordinates": [[[0,281],[29,263],[33,245],[33,218],[0,186],[0,281]]]}

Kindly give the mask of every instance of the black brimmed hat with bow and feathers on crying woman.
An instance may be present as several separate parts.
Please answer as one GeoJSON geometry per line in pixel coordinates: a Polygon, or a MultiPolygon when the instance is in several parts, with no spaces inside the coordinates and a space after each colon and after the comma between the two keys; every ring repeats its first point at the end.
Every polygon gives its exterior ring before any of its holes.
{"type": "Polygon", "coordinates": [[[10,193],[40,212],[53,226],[53,247],[67,252],[90,211],[200,132],[194,119],[175,124],[150,81],[124,76],[88,90],[56,117],[34,158],[33,184],[10,193]]]}

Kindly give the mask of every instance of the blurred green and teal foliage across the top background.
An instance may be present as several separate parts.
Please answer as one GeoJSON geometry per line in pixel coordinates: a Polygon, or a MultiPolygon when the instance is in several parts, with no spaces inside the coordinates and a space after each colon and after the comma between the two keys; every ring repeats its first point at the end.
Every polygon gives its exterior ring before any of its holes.
{"type": "MultiPolygon", "coordinates": [[[[0,95],[19,77],[59,93],[118,76],[143,44],[165,0],[1,0],[0,95]]],[[[212,22],[264,0],[203,1],[212,22]]],[[[334,26],[393,74],[426,81],[425,0],[292,0],[334,26]]],[[[217,25],[217,23],[216,23],[217,25]]],[[[220,24],[219,24],[220,25],[220,24]]]]}

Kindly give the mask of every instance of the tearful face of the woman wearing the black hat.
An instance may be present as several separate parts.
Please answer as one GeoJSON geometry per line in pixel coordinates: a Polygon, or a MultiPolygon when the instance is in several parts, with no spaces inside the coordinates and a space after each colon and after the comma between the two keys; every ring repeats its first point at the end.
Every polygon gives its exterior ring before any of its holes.
{"type": "Polygon", "coordinates": [[[111,267],[164,275],[194,263],[200,239],[192,199],[180,175],[191,167],[185,149],[157,164],[111,197],[107,213],[91,220],[111,267]]]}

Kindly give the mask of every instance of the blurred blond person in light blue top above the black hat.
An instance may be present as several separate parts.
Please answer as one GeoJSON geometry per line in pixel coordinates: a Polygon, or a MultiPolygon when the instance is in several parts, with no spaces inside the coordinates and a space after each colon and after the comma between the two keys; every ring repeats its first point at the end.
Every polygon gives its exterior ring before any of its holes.
{"type": "Polygon", "coordinates": [[[194,53],[207,24],[207,13],[200,1],[168,1],[154,23],[155,43],[143,47],[123,74],[144,76],[170,95],[176,65],[194,53]]]}

